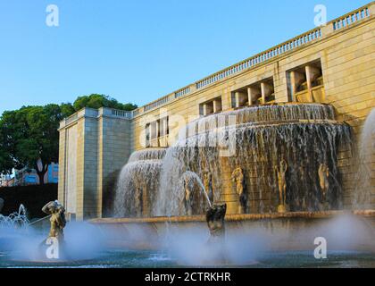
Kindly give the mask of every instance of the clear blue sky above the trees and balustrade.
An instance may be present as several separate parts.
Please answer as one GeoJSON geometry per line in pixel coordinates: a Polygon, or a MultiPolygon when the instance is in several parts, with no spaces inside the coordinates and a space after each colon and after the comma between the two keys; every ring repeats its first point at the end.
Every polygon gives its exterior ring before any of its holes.
{"type": "Polygon", "coordinates": [[[144,105],[370,0],[0,0],[0,114],[102,93],[144,105]],[[46,26],[46,6],[59,27],[46,26]]]}

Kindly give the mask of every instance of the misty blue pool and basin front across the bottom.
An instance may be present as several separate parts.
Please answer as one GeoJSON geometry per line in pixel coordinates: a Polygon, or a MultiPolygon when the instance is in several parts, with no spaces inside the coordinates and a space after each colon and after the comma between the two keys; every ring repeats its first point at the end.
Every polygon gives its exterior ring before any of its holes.
{"type": "Polygon", "coordinates": [[[12,249],[0,250],[0,267],[375,267],[375,214],[229,215],[223,263],[206,246],[204,217],[184,219],[68,223],[65,238],[75,257],[62,262],[34,259],[32,246],[46,233],[29,230],[12,249]],[[328,241],[327,259],[314,257],[317,237],[328,241]]]}

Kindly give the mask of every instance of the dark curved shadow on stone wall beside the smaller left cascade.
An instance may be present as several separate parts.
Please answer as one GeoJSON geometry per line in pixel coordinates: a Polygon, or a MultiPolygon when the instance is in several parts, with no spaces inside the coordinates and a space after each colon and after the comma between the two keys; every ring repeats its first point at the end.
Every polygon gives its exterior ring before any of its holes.
{"type": "Polygon", "coordinates": [[[117,188],[117,180],[119,178],[121,170],[111,172],[104,179],[104,188],[103,188],[103,217],[112,217],[113,216],[113,203],[114,196],[117,188]]]}

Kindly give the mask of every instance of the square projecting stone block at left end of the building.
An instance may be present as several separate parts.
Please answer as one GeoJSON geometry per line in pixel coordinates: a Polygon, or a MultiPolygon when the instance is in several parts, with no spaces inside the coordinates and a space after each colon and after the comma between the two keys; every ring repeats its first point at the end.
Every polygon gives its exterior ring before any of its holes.
{"type": "Polygon", "coordinates": [[[58,199],[74,206],[68,208],[72,218],[101,216],[102,195],[114,180],[114,172],[127,161],[131,138],[129,114],[109,108],[85,108],[61,122],[58,199]],[[71,138],[74,133],[75,138],[71,138]],[[70,147],[74,145],[77,147],[72,152],[70,147]],[[74,180],[69,175],[72,166],[77,172],[74,180]],[[72,181],[76,186],[71,186],[72,181]],[[75,195],[75,201],[70,194],[75,195]]]}

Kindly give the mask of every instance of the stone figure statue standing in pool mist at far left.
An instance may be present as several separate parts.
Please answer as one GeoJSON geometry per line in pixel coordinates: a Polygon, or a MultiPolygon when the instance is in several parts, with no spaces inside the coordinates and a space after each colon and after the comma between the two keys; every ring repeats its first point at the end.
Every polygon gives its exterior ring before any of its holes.
{"type": "Polygon", "coordinates": [[[43,206],[42,211],[45,214],[51,214],[51,218],[49,219],[51,228],[48,237],[56,238],[59,242],[63,242],[63,228],[66,225],[64,207],[55,200],[43,206]]]}

